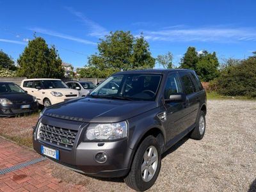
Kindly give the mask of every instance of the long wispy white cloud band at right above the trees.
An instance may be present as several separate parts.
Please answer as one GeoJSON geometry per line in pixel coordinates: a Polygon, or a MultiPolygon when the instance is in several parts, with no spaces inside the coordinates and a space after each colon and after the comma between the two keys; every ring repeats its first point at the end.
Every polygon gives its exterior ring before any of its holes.
{"type": "Polygon", "coordinates": [[[143,31],[143,34],[147,40],[170,42],[256,41],[256,29],[252,28],[180,28],[179,26],[178,29],[143,31]]]}

